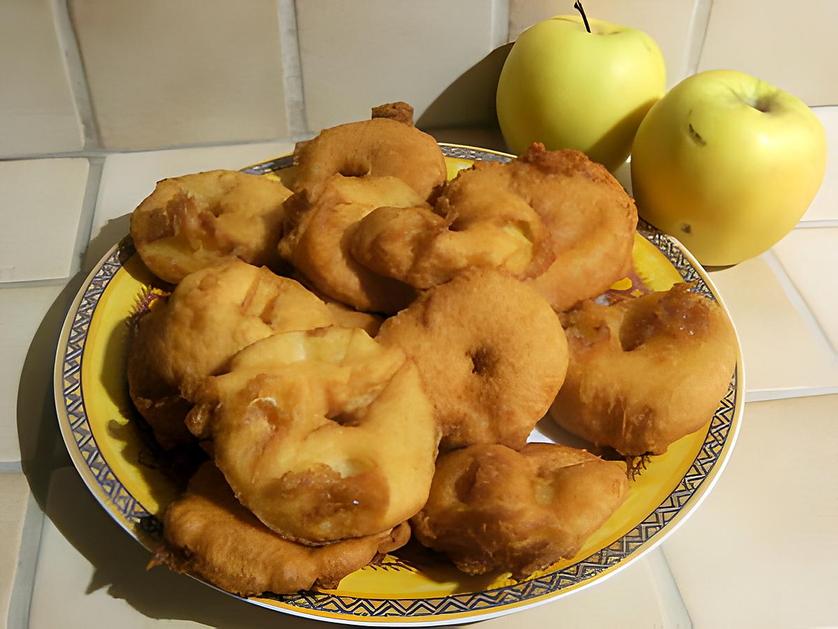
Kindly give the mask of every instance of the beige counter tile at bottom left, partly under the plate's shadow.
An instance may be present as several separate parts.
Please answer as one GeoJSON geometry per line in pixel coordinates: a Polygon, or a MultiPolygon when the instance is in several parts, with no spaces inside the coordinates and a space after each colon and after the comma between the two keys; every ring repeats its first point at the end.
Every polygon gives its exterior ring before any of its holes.
{"type": "Polygon", "coordinates": [[[225,626],[320,629],[322,623],[236,601],[164,568],[96,503],[75,468],[56,470],[41,536],[31,629],[225,626]]]}

